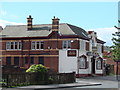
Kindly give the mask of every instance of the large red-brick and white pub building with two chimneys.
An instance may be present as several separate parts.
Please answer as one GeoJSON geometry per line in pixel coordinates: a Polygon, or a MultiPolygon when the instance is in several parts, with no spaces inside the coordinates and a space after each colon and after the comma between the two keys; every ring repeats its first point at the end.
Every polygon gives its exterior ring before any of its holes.
{"type": "Polygon", "coordinates": [[[1,32],[0,56],[2,65],[17,65],[29,68],[32,64],[44,66],[58,72],[76,72],[76,76],[103,75],[104,41],[94,31],[60,23],[32,23],[8,25],[1,32]]]}

